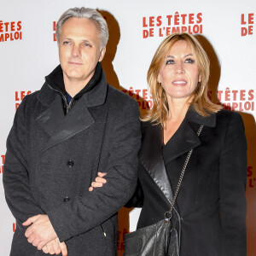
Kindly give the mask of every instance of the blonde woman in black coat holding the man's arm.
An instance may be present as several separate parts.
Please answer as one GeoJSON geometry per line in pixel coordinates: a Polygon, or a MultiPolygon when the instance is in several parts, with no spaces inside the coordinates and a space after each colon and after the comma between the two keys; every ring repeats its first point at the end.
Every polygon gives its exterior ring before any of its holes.
{"type": "MultiPolygon", "coordinates": [[[[139,187],[130,204],[143,207],[137,229],[162,220],[172,201],[166,194],[172,197],[193,148],[173,210],[180,255],[246,256],[243,122],[210,102],[208,79],[209,60],[195,37],[172,34],[156,50],[148,69],[154,107],[143,119],[139,187]]],[[[93,187],[106,182],[103,175],[93,187]]]]}

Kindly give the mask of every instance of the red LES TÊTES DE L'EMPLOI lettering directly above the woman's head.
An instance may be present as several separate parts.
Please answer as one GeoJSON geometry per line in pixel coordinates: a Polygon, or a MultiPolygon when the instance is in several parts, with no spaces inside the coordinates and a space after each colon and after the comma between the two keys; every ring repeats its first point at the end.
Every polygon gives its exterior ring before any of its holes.
{"type": "Polygon", "coordinates": [[[175,32],[202,33],[202,13],[143,17],[143,38],[166,37],[175,32]]]}

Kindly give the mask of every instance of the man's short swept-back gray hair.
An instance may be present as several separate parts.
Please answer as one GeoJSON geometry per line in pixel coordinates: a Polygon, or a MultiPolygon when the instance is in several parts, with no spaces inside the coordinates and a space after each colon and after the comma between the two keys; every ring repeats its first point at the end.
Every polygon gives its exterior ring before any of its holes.
{"type": "Polygon", "coordinates": [[[90,8],[71,8],[68,9],[61,18],[58,20],[56,24],[56,39],[59,43],[60,34],[61,34],[61,27],[63,26],[64,22],[70,18],[86,18],[90,20],[95,20],[96,25],[99,29],[100,39],[101,39],[101,46],[106,46],[108,43],[108,25],[106,20],[102,17],[102,15],[96,11],[96,9],[90,8]]]}

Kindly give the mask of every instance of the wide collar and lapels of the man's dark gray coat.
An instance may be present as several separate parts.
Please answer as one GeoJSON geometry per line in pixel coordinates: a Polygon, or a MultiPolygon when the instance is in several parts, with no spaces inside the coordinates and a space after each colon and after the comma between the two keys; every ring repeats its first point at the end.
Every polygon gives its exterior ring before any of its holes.
{"type": "Polygon", "coordinates": [[[61,94],[45,82],[38,94],[38,100],[43,103],[44,110],[41,110],[37,116],[38,123],[50,136],[44,150],[73,137],[94,124],[95,119],[88,108],[103,105],[107,93],[108,84],[104,73],[102,73],[100,82],[93,89],[84,93],[65,115],[61,94]]]}

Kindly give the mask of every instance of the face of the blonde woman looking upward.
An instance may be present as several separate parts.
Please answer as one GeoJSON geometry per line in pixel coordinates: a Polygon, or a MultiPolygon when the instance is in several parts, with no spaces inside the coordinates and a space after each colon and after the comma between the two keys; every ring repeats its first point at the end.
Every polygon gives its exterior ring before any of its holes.
{"type": "Polygon", "coordinates": [[[162,84],[167,98],[172,99],[187,99],[201,82],[195,56],[186,41],[173,44],[160,67],[157,81],[162,84]]]}

